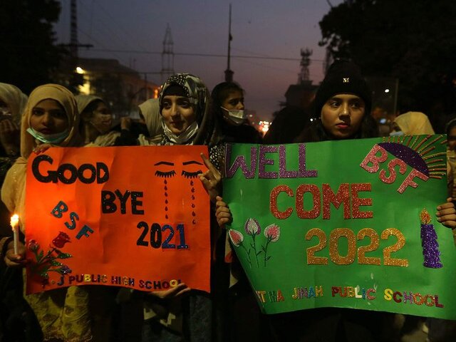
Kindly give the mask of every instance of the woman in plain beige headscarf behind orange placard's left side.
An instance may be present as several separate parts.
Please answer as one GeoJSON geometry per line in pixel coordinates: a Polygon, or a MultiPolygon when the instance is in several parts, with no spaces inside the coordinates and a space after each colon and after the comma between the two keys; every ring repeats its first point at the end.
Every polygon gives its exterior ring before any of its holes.
{"type": "MultiPolygon", "coordinates": [[[[78,127],[76,100],[68,89],[56,84],[46,84],[32,91],[21,123],[21,157],[9,170],[1,188],[1,199],[6,207],[11,213],[19,214],[22,232],[26,232],[25,188],[28,157],[32,152],[38,153],[49,146],[81,146],[78,127]]],[[[12,242],[7,248],[4,253],[7,266],[24,266],[24,244],[19,244],[17,254],[14,253],[12,242]]],[[[103,290],[102,286],[99,287],[103,290]]],[[[103,303],[90,308],[93,297],[90,294],[91,288],[92,286],[70,286],[25,296],[38,318],[44,340],[108,341],[108,332],[100,328],[105,323],[100,311],[104,312],[108,306],[103,303]],[[95,315],[98,322],[93,324],[95,315]]]]}

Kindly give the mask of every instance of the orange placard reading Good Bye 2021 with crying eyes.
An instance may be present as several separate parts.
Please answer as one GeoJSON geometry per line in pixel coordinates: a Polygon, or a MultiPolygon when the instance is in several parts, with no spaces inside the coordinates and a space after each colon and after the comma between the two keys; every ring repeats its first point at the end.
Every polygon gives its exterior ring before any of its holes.
{"type": "Polygon", "coordinates": [[[204,146],[51,148],[28,160],[27,293],[100,284],[209,291],[204,146]]]}

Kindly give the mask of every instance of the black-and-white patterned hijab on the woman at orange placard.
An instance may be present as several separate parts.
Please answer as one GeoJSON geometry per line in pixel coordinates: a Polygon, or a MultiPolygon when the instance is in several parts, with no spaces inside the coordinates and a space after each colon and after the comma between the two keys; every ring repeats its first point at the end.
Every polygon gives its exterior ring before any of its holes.
{"type": "MultiPolygon", "coordinates": [[[[190,73],[176,73],[175,75],[170,76],[165,84],[163,84],[160,95],[158,96],[160,113],[162,113],[162,103],[165,92],[170,86],[180,86],[184,91],[185,96],[189,98],[190,103],[192,103],[195,108],[199,128],[195,138],[191,141],[192,145],[210,145],[212,131],[214,130],[214,122],[212,118],[210,118],[210,97],[207,87],[200,78],[193,76],[190,73]]],[[[166,135],[165,140],[167,140],[166,135]]]]}

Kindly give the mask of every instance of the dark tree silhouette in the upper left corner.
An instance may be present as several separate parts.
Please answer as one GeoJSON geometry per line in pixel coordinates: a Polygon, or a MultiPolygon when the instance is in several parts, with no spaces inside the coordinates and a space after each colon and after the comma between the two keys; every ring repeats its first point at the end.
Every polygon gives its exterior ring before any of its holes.
{"type": "Polygon", "coordinates": [[[57,0],[0,0],[1,82],[29,93],[51,81],[65,49],[55,45],[57,0]]]}

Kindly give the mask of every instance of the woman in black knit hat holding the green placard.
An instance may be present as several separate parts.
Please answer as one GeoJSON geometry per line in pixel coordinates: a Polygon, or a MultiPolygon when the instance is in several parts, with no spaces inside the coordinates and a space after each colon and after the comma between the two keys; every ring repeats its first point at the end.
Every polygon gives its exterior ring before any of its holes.
{"type": "MultiPolygon", "coordinates": [[[[295,142],[319,142],[374,138],[378,130],[371,110],[371,92],[358,67],[336,61],[318,88],[315,98],[318,120],[295,142]]],[[[217,197],[217,222],[221,227],[232,215],[217,197]]],[[[456,210],[451,202],[437,207],[437,220],[456,227],[456,210]]],[[[353,309],[321,308],[271,315],[277,341],[394,341],[393,314],[353,309]]]]}

